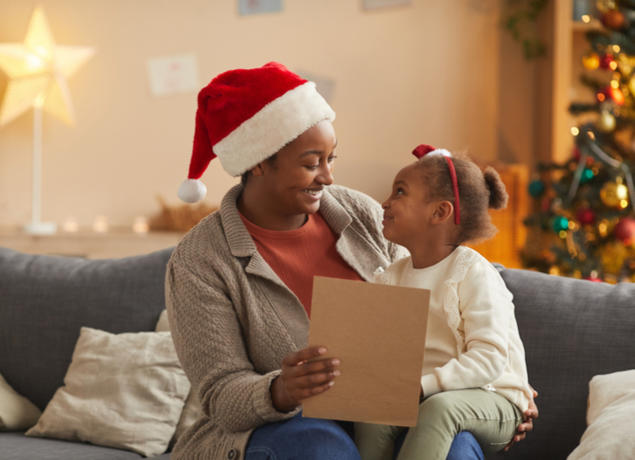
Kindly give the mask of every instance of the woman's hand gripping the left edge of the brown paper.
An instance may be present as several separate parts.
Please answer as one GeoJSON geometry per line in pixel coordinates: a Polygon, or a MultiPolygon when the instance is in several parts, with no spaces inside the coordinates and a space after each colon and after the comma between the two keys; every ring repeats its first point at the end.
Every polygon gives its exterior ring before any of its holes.
{"type": "Polygon", "coordinates": [[[289,412],[303,399],[323,393],[333,386],[340,375],[337,358],[322,358],[326,348],[308,347],[290,353],[282,360],[282,373],[271,385],[271,399],[280,412],[289,412]]]}

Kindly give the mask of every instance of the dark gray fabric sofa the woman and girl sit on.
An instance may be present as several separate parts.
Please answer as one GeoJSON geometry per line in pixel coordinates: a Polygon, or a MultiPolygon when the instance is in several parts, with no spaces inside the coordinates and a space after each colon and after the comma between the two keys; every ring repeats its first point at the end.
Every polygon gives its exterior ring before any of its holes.
{"type": "MultiPolygon", "coordinates": [[[[0,373],[44,409],[62,385],[81,326],[154,330],[170,249],[113,260],[34,256],[0,248],[0,373]]],[[[635,368],[635,285],[499,267],[514,294],[540,418],[503,458],[565,459],[585,429],[593,375],[635,368]]],[[[89,444],[0,433],[2,460],[134,459],[89,444]]],[[[168,458],[164,454],[157,458],[168,458]]]]}

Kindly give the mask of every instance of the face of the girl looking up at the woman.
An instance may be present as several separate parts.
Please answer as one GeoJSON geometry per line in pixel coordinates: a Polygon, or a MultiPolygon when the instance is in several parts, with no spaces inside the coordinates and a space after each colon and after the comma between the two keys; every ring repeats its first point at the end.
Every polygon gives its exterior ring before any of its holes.
{"type": "Polygon", "coordinates": [[[428,198],[421,167],[416,163],[403,168],[384,201],[383,233],[386,239],[408,249],[430,232],[430,221],[438,202],[428,198]]]}

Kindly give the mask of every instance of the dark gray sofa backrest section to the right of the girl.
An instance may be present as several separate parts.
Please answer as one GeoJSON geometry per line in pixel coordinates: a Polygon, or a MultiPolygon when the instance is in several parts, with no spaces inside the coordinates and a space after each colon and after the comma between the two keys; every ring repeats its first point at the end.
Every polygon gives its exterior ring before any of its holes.
{"type": "Polygon", "coordinates": [[[635,368],[635,284],[517,269],[501,275],[514,295],[529,382],[539,392],[540,417],[512,457],[566,458],[586,428],[591,377],[635,368]]]}

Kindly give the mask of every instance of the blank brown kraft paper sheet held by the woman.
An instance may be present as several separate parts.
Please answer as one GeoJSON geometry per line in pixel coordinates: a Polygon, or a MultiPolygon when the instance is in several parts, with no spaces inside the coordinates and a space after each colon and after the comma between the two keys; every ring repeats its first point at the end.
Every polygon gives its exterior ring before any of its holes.
{"type": "Polygon", "coordinates": [[[415,426],[430,291],[316,276],[309,345],[341,360],[303,416],[415,426]]]}

